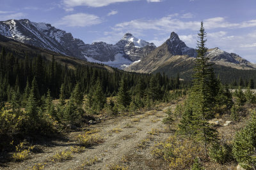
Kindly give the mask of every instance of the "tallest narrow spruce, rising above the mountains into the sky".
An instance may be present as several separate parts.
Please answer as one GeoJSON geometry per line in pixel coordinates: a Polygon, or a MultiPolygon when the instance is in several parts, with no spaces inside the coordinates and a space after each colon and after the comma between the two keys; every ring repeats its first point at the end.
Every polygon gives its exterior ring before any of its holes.
{"type": "MultiPolygon", "coordinates": [[[[181,124],[188,125],[191,134],[196,139],[204,143],[205,155],[207,155],[207,146],[209,143],[218,140],[218,132],[208,123],[208,118],[212,117],[212,108],[214,107],[214,97],[216,89],[212,83],[216,80],[209,58],[205,57],[207,48],[205,47],[206,32],[203,22],[201,22],[200,32],[198,33],[197,56],[195,64],[195,74],[193,75],[193,87],[189,94],[192,100],[191,109],[182,117],[181,124]],[[188,119],[189,118],[189,119],[188,119]]],[[[184,127],[180,125],[180,127],[184,127]]],[[[183,129],[184,130],[184,129],[183,129]]]]}

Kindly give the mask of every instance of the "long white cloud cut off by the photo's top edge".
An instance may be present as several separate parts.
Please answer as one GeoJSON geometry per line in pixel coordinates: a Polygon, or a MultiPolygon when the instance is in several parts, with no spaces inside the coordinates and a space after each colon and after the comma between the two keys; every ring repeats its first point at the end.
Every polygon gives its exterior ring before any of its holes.
{"type": "MultiPolygon", "coordinates": [[[[141,0],[62,0],[65,10],[71,11],[75,6],[91,6],[102,7],[108,6],[113,3],[125,3],[129,1],[141,1],[141,0]]],[[[161,0],[147,0],[148,3],[159,3],[161,0]]]]}

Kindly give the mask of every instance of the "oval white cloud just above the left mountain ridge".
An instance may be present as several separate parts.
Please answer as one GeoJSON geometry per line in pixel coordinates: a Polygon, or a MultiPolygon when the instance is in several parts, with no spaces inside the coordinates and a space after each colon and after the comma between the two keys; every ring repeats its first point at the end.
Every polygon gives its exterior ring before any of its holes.
{"type": "Polygon", "coordinates": [[[76,13],[72,15],[67,15],[55,25],[65,25],[67,27],[86,27],[90,25],[97,25],[102,23],[102,20],[96,15],[91,15],[87,13],[76,13]]]}

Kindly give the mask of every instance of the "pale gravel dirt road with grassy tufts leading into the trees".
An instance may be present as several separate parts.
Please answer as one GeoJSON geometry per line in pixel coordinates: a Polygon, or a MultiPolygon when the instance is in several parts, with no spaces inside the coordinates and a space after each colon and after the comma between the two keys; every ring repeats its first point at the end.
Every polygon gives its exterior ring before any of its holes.
{"type": "MultiPolygon", "coordinates": [[[[175,104],[169,105],[173,109],[175,104]]],[[[3,169],[29,169],[35,164],[44,164],[45,169],[111,169],[111,167],[127,167],[127,169],[168,169],[168,165],[161,160],[156,160],[150,154],[152,146],[157,141],[168,138],[166,125],[162,120],[166,116],[164,110],[147,111],[132,117],[111,118],[90,125],[90,129],[99,129],[103,143],[86,148],[83,153],[72,153],[71,160],[51,162],[56,152],[68,150],[76,146],[73,138],[79,132],[68,134],[67,141],[52,141],[49,146],[41,146],[42,152],[33,153],[31,158],[24,162],[16,162],[2,167],[3,169]],[[93,158],[95,160],[93,160],[93,158]]],[[[1,169],[1,167],[0,167],[1,169]]]]}

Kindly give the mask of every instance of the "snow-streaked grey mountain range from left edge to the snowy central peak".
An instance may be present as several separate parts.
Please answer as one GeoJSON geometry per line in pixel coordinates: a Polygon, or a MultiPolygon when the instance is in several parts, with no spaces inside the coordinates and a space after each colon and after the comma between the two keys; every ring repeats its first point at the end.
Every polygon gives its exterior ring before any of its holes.
{"type": "Polygon", "coordinates": [[[86,44],[51,24],[31,22],[28,19],[0,22],[0,34],[63,55],[113,64],[116,67],[140,60],[142,56],[156,48],[153,43],[135,38],[130,33],[125,34],[124,38],[115,45],[104,42],[86,44]]]}

